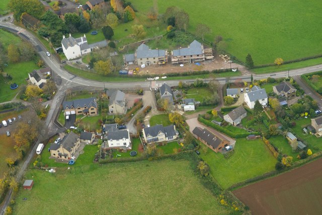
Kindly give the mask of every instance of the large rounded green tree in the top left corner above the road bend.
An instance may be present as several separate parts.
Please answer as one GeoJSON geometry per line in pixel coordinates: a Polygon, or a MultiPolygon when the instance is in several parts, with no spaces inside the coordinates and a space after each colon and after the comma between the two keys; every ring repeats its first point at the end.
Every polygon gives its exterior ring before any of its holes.
{"type": "Polygon", "coordinates": [[[44,6],[38,0],[11,0],[8,7],[14,13],[14,18],[18,22],[25,12],[37,19],[44,13],[44,6]]]}

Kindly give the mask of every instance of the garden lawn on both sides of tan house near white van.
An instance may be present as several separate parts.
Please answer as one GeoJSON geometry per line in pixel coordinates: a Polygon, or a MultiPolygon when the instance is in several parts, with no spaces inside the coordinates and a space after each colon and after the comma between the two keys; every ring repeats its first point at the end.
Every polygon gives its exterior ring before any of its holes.
{"type": "MultiPolygon", "coordinates": [[[[47,164],[49,167],[67,167],[68,164],[55,162],[54,159],[49,159],[50,152],[48,151],[50,144],[56,140],[57,137],[51,138],[48,144],[45,146],[44,150],[41,153],[41,162],[43,164],[47,164]]],[[[94,165],[93,160],[95,157],[95,153],[98,151],[97,145],[86,145],[83,149],[84,154],[79,155],[76,159],[75,164],[73,166],[84,166],[84,165],[94,165]]]]}

